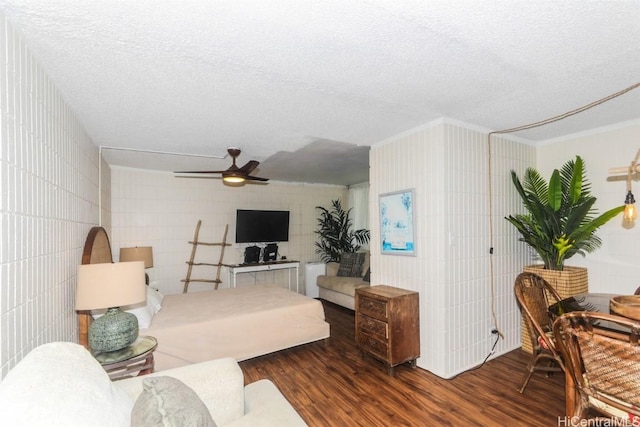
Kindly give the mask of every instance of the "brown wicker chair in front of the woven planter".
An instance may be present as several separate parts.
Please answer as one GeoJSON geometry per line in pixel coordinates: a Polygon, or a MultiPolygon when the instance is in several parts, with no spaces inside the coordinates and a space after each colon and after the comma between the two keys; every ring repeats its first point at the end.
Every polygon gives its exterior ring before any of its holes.
{"type": "Polygon", "coordinates": [[[554,318],[549,312],[549,305],[559,302],[561,297],[546,280],[529,272],[518,275],[514,291],[529,330],[533,349],[522,386],[518,389],[520,393],[524,393],[535,371],[544,371],[547,374],[564,371],[562,358],[553,338],[554,318]]]}

